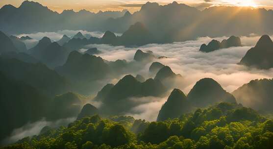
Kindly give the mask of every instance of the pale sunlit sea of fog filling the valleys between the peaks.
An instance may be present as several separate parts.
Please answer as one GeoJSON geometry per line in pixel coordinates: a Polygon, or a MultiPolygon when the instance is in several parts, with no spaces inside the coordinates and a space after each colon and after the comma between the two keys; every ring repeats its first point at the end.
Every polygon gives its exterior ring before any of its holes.
{"type": "MultiPolygon", "coordinates": [[[[43,36],[48,36],[51,40],[58,40],[63,34],[73,36],[78,31],[60,31],[57,33],[37,33],[29,34],[31,38],[36,40],[41,39],[43,36]]],[[[86,32],[82,32],[85,34],[86,32]]],[[[101,37],[102,34],[92,34],[93,36],[101,37]]],[[[24,35],[25,36],[25,35],[24,35]]],[[[222,41],[228,37],[214,38],[222,41]]],[[[108,61],[115,61],[117,59],[125,59],[132,61],[136,50],[143,51],[151,50],[156,56],[166,56],[168,58],[157,59],[155,61],[168,65],[176,74],[181,74],[184,78],[183,85],[179,86],[180,89],[187,94],[195,83],[204,77],[211,77],[218,81],[222,87],[232,92],[245,83],[253,79],[260,78],[273,78],[273,69],[271,70],[256,70],[248,69],[245,66],[237,65],[246,52],[253,46],[260,36],[250,35],[249,37],[241,37],[244,47],[228,48],[213,51],[210,53],[203,53],[199,51],[201,44],[208,44],[212,38],[202,37],[195,41],[176,42],[173,44],[149,44],[139,48],[125,48],[123,46],[113,47],[109,45],[88,45],[80,51],[85,51],[89,48],[98,48],[102,51],[97,56],[102,57],[108,61]]],[[[143,75],[145,78],[154,77],[149,74],[149,66],[151,63],[143,66],[143,69],[138,72],[132,72],[131,75],[143,75]]],[[[111,83],[116,83],[119,79],[113,80],[111,83]]],[[[143,102],[137,107],[134,107],[127,115],[133,116],[135,119],[145,119],[147,121],[156,121],[158,112],[162,104],[167,100],[165,98],[147,97],[149,102],[143,102]]],[[[132,99],[141,101],[142,99],[132,99]]],[[[40,127],[45,126],[47,123],[38,123],[40,127]]],[[[30,134],[37,134],[37,131],[30,134]],[[36,133],[35,133],[36,132],[36,133]]],[[[22,137],[23,135],[21,135],[22,137]]]]}

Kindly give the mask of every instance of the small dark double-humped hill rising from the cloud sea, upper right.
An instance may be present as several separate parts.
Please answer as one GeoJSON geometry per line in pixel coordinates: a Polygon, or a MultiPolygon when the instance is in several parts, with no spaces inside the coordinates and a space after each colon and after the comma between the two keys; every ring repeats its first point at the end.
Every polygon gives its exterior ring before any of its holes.
{"type": "Polygon", "coordinates": [[[221,43],[217,40],[212,40],[208,45],[203,44],[200,47],[202,52],[211,52],[223,48],[241,47],[241,39],[239,37],[231,36],[227,40],[224,39],[221,43]]]}

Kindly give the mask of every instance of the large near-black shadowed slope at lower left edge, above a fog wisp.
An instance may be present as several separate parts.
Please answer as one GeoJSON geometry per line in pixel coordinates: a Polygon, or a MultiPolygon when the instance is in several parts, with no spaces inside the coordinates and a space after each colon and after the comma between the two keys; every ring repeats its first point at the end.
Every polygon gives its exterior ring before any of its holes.
{"type": "Polygon", "coordinates": [[[45,117],[49,99],[34,87],[10,75],[0,72],[0,81],[0,118],[5,120],[5,123],[0,124],[0,140],[3,140],[14,129],[45,117]]]}

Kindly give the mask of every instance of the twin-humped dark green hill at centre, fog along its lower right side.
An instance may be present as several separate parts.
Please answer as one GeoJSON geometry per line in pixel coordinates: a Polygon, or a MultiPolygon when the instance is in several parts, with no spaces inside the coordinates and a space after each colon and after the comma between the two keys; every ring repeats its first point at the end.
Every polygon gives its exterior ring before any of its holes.
{"type": "Polygon", "coordinates": [[[148,79],[141,83],[132,75],[126,75],[102,99],[101,111],[122,114],[139,104],[129,98],[160,97],[165,92],[166,88],[159,80],[148,79]]]}

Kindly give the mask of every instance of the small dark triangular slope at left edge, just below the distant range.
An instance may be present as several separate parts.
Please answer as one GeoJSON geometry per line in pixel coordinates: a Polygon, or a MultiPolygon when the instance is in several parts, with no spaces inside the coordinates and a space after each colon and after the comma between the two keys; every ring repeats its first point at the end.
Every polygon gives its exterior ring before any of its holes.
{"type": "Polygon", "coordinates": [[[8,36],[1,31],[0,31],[0,41],[1,41],[0,53],[18,51],[18,49],[14,46],[13,42],[8,38],[8,36]]]}

